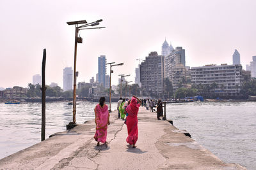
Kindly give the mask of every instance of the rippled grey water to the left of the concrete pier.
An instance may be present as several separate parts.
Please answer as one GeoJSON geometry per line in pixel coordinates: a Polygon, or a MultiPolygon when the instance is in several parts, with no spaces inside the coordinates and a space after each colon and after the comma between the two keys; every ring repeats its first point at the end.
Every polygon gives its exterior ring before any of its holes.
{"type": "MultiPolygon", "coordinates": [[[[79,101],[77,124],[94,118],[95,105],[79,101]]],[[[116,103],[113,103],[112,110],[115,108],[116,103]]],[[[0,159],[40,142],[41,118],[41,103],[0,103],[0,159]]],[[[67,102],[46,103],[45,138],[65,131],[69,122],[72,122],[72,106],[67,102]]]]}

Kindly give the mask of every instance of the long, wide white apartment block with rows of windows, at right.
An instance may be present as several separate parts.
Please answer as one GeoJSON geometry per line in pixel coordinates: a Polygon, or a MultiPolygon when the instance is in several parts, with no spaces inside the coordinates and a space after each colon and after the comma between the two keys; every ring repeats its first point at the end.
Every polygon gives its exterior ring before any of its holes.
{"type": "Polygon", "coordinates": [[[209,92],[220,96],[237,96],[241,87],[242,65],[215,64],[202,67],[191,67],[192,85],[209,85],[216,83],[216,88],[209,92]]]}

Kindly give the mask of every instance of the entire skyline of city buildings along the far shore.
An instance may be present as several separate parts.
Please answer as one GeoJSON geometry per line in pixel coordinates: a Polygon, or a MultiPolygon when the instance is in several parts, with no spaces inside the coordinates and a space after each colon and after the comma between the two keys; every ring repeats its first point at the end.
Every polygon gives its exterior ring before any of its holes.
{"type": "MultiPolygon", "coordinates": [[[[157,52],[150,52],[139,66],[135,69],[137,83],[142,90],[143,96],[164,96],[164,81],[166,79],[172,82],[173,93],[180,87],[207,87],[207,91],[218,96],[239,96],[241,81],[243,74],[252,74],[256,78],[256,56],[252,57],[250,65],[246,65],[246,71],[240,63],[240,53],[235,50],[233,63],[209,64],[200,67],[186,66],[186,53],[182,46],[173,48],[172,44],[168,44],[165,40],[162,45],[161,55],[157,52]]],[[[73,88],[73,70],[72,67],[63,69],[63,90],[68,91],[73,88]]],[[[106,95],[106,89],[109,89],[109,75],[106,74],[106,56],[98,57],[98,73],[96,80],[94,77],[90,79],[90,83],[79,82],[77,89],[82,90],[84,87],[88,89],[88,96],[106,95]]],[[[125,82],[122,77],[118,80],[125,82]]],[[[41,85],[40,74],[33,76],[33,84],[41,85]]],[[[58,86],[57,83],[51,83],[50,87],[58,86]]],[[[117,91],[117,87],[112,85],[112,89],[117,91]]],[[[0,90],[0,97],[24,97],[28,89],[22,87],[13,87],[6,90],[0,90]]]]}

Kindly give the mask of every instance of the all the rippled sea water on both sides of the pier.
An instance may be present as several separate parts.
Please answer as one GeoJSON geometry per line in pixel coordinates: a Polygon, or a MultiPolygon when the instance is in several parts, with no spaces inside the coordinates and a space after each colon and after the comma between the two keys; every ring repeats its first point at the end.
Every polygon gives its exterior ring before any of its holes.
{"type": "MultiPolygon", "coordinates": [[[[94,118],[95,104],[79,102],[78,124],[94,118]]],[[[186,129],[224,162],[256,169],[256,103],[167,104],[166,110],[177,128],[186,129]]],[[[72,106],[67,102],[47,103],[45,137],[65,131],[71,120],[72,106]]],[[[0,103],[0,132],[0,159],[40,142],[41,104],[0,103]]]]}

